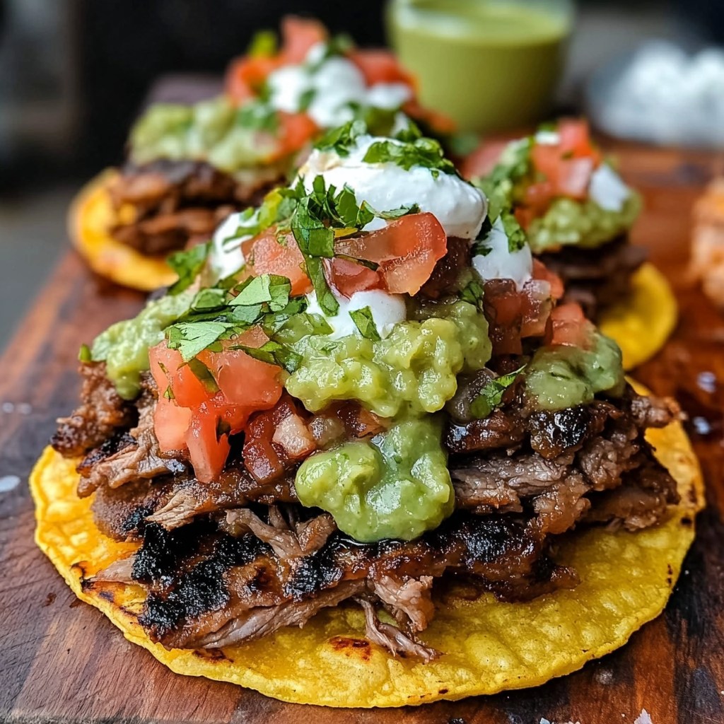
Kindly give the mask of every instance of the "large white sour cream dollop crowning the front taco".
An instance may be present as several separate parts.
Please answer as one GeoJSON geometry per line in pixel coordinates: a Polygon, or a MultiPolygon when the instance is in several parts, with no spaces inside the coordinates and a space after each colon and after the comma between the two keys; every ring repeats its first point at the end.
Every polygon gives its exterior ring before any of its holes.
{"type": "MultiPolygon", "coordinates": [[[[333,151],[312,151],[299,171],[305,188],[311,191],[314,178],[321,176],[327,188],[341,189],[347,184],[358,204],[366,201],[376,211],[417,204],[421,211],[434,214],[447,236],[474,239],[487,211],[483,193],[455,174],[439,172],[435,177],[431,169],[420,166],[405,170],[392,161],[374,164],[363,161],[369,147],[382,140],[403,145],[397,140],[362,135],[348,156],[339,156],[333,151]]],[[[375,218],[364,230],[381,229],[386,223],[375,218]]]]}

